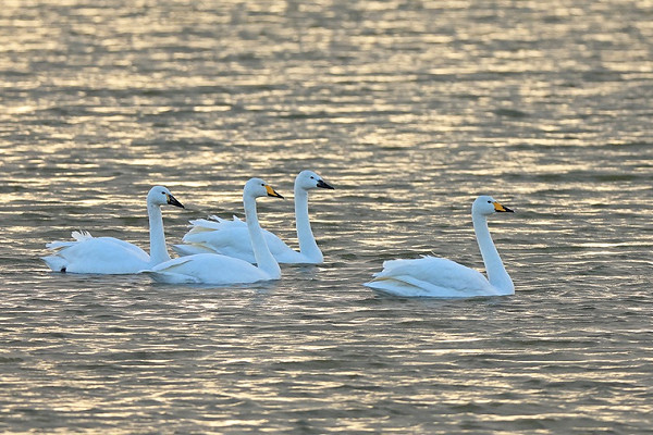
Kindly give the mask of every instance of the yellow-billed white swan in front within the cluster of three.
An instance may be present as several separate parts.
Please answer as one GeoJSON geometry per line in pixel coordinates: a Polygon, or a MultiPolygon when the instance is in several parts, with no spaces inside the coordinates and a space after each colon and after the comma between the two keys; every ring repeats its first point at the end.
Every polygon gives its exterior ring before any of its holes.
{"type": "Polygon", "coordinates": [[[173,284],[232,285],[279,279],[281,269],[266,245],[256,212],[256,198],[266,196],[283,198],[260,178],[251,178],[245,184],[243,203],[258,266],[220,253],[195,253],[165,261],[143,272],[155,281],[173,284]]]}

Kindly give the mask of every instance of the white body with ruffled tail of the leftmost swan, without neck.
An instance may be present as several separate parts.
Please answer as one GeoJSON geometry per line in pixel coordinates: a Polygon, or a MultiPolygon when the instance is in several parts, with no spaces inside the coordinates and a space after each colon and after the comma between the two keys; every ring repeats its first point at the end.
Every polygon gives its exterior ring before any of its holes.
{"type": "Polygon", "coordinates": [[[149,264],[143,249],[114,237],[93,237],[88,233],[73,233],[75,241],[52,243],[54,252],[42,260],[56,272],[127,274],[149,264]]]}

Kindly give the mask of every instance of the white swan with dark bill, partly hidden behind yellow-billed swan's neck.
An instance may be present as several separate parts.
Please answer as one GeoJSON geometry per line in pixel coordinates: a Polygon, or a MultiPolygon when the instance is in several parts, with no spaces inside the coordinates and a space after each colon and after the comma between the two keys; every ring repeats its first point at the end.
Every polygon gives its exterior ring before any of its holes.
{"type": "MultiPolygon", "coordinates": [[[[266,243],[270,252],[280,263],[291,264],[319,264],[324,261],[322,251],[316,243],[308,217],[308,191],[323,188],[333,189],[312,171],[301,171],[295,178],[295,222],[299,252],[287,246],[274,234],[264,231],[266,243]]],[[[226,221],[218,216],[212,220],[199,219],[190,221],[193,227],[184,236],[186,245],[174,245],[181,256],[193,253],[217,252],[229,257],[239,258],[250,263],[256,263],[251,241],[247,233],[247,224],[234,216],[226,221]]]]}

